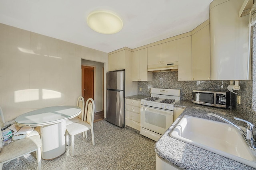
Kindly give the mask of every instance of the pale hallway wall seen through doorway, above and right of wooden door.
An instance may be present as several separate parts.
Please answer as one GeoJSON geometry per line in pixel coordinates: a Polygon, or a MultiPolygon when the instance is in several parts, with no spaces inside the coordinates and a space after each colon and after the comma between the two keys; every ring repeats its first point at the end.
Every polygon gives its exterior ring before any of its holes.
{"type": "Polygon", "coordinates": [[[95,112],[104,110],[103,108],[103,74],[102,68],[104,67],[103,63],[82,60],[82,65],[95,66],[94,70],[94,102],[95,102],[95,112]]]}

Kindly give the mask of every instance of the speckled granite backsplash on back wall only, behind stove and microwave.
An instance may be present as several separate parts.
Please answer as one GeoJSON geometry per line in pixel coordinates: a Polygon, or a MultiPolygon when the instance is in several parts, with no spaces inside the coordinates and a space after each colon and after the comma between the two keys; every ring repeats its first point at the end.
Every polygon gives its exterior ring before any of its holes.
{"type": "Polygon", "coordinates": [[[227,90],[230,81],[178,81],[178,71],[154,72],[153,81],[138,82],[138,94],[150,96],[150,88],[180,89],[180,100],[192,101],[192,90],[227,90]],[[142,88],[142,91],[140,91],[142,88]]]}

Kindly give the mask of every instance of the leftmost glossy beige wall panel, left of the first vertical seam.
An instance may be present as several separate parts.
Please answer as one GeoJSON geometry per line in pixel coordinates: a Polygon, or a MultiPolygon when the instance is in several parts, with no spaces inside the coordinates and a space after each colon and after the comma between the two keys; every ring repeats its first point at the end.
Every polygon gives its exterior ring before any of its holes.
{"type": "Polygon", "coordinates": [[[0,106],[5,121],[29,110],[30,32],[0,23],[0,106]]]}

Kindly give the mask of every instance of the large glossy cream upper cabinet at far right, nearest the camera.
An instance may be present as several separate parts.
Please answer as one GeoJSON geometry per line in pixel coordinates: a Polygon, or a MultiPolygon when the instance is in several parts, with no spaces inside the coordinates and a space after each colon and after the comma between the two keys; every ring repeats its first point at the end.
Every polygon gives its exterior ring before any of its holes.
{"type": "Polygon", "coordinates": [[[250,80],[249,15],[239,17],[243,0],[210,4],[211,80],[250,80]]]}

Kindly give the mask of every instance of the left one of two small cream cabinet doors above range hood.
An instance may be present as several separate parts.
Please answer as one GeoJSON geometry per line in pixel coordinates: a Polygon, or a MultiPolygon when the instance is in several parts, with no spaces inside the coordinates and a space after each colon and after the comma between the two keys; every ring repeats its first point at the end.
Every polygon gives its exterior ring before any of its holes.
{"type": "Polygon", "coordinates": [[[161,63],[161,44],[148,47],[148,65],[161,63]]]}

